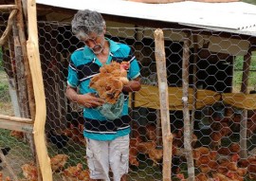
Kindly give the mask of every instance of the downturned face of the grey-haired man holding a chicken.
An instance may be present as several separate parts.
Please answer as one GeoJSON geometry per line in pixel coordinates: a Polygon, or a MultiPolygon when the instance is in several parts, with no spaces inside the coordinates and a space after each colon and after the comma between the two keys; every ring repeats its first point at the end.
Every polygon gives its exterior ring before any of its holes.
{"type": "Polygon", "coordinates": [[[87,45],[96,55],[100,54],[104,48],[104,33],[97,34],[95,32],[89,34],[87,39],[83,40],[84,44],[87,45]]]}

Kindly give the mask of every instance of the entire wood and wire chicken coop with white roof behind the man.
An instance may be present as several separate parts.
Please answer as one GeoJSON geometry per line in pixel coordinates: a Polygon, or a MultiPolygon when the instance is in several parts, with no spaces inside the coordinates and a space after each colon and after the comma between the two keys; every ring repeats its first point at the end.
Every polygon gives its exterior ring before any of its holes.
{"type": "Polygon", "coordinates": [[[255,5],[0,2],[0,180],[89,179],[82,106],[65,97],[78,9],[101,12],[140,66],[128,180],[256,180],[255,5]]]}

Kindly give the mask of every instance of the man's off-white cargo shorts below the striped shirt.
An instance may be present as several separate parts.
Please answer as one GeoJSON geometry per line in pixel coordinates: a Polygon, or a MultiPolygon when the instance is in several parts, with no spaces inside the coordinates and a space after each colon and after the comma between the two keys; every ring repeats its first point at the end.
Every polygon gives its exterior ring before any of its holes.
{"type": "Polygon", "coordinates": [[[129,135],[112,141],[86,138],[86,156],[90,177],[110,181],[109,171],[111,170],[113,180],[119,181],[123,174],[128,173],[129,141],[129,135]]]}

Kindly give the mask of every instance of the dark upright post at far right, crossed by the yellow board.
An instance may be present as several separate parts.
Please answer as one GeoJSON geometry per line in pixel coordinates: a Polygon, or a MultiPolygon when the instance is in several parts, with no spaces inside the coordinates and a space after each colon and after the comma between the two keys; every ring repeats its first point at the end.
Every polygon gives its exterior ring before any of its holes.
{"type": "MultiPolygon", "coordinates": [[[[247,94],[249,65],[251,62],[251,47],[249,47],[247,54],[244,56],[243,64],[243,78],[241,85],[241,92],[247,94]]],[[[241,145],[241,158],[247,158],[247,110],[243,110],[240,129],[240,145],[241,145]]]]}

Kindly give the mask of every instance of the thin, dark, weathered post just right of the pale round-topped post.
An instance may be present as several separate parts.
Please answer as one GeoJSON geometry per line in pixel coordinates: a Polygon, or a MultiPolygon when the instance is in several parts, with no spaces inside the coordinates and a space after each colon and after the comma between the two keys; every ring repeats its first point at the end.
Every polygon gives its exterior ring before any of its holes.
{"type": "Polygon", "coordinates": [[[184,39],[183,59],[182,59],[182,100],[183,100],[183,118],[184,118],[184,150],[187,158],[188,181],[194,179],[194,166],[192,157],[192,133],[189,110],[189,62],[190,62],[190,38],[188,35],[184,39]]]}

